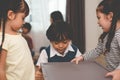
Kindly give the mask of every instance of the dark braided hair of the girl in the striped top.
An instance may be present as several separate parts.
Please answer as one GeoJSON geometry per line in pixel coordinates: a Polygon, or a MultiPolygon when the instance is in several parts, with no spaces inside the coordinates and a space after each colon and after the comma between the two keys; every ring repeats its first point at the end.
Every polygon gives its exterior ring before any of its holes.
{"type": "Polygon", "coordinates": [[[117,21],[120,20],[120,0],[102,0],[98,5],[97,12],[102,12],[103,14],[113,13],[112,23],[109,32],[103,32],[100,39],[103,41],[105,36],[108,34],[108,39],[106,43],[106,51],[110,51],[110,46],[112,39],[115,35],[117,21]]]}

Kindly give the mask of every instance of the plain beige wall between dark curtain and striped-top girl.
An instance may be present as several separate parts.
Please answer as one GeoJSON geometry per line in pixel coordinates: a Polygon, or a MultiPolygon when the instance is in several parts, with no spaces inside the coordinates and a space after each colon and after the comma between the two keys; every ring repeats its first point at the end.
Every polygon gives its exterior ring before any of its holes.
{"type": "Polygon", "coordinates": [[[96,7],[101,0],[85,0],[86,51],[94,49],[102,30],[97,24],[96,7]]]}

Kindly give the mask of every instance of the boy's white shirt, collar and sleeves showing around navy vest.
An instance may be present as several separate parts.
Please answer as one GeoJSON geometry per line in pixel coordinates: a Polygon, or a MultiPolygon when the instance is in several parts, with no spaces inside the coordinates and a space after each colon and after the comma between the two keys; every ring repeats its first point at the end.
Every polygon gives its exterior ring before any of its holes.
{"type": "MultiPolygon", "coordinates": [[[[68,53],[68,51],[73,51],[74,52],[74,49],[72,48],[71,43],[68,45],[67,49],[65,50],[64,55],[57,52],[53,48],[53,46],[50,45],[50,57],[53,57],[55,55],[64,57],[68,53]]],[[[81,52],[79,51],[79,49],[77,49],[77,53],[76,53],[75,57],[78,57],[80,55],[81,55],[81,52]]],[[[47,55],[47,52],[46,52],[45,49],[41,51],[36,65],[40,66],[41,63],[48,63],[48,55],[47,55]]]]}

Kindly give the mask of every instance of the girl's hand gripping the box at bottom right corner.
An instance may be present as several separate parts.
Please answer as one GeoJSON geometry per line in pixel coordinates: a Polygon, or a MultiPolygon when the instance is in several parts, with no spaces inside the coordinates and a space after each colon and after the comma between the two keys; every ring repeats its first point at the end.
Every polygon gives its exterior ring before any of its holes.
{"type": "Polygon", "coordinates": [[[120,69],[116,69],[106,74],[106,77],[113,77],[112,80],[120,80],[120,69]]]}

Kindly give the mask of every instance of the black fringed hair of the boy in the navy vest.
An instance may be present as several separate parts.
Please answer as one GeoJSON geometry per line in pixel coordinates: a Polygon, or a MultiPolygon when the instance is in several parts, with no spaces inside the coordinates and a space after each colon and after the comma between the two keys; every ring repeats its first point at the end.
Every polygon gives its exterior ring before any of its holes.
{"type": "Polygon", "coordinates": [[[72,40],[72,28],[66,22],[52,23],[48,28],[46,35],[50,41],[72,40]]]}

